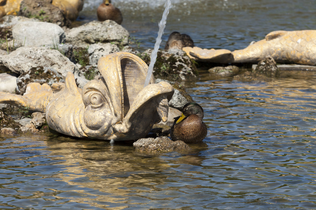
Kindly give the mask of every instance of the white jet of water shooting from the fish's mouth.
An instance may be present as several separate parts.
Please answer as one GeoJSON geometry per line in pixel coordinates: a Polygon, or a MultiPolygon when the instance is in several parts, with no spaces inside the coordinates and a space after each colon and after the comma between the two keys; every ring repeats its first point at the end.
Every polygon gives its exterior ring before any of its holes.
{"type": "Polygon", "coordinates": [[[150,63],[149,63],[148,72],[147,72],[147,76],[145,79],[144,87],[146,87],[149,84],[150,76],[151,76],[151,73],[153,72],[154,64],[155,64],[156,58],[157,58],[157,52],[158,52],[158,49],[159,49],[159,46],[161,43],[161,36],[162,36],[163,30],[165,29],[165,26],[166,26],[167,16],[168,16],[170,8],[171,8],[171,0],[167,0],[167,2],[165,3],[165,10],[163,11],[162,18],[158,24],[159,25],[158,36],[156,38],[154,50],[152,51],[151,56],[150,56],[150,63]]]}

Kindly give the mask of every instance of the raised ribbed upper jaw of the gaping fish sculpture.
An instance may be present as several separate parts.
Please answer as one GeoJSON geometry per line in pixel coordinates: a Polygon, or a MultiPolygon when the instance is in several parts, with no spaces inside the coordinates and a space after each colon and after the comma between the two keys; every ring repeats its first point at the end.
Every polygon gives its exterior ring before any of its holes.
{"type": "MultiPolygon", "coordinates": [[[[148,66],[137,55],[116,52],[101,57],[98,61],[98,69],[115,107],[117,122],[120,122],[126,116],[137,94],[143,90],[148,66]]],[[[155,84],[153,75],[149,84],[155,84]]]]}

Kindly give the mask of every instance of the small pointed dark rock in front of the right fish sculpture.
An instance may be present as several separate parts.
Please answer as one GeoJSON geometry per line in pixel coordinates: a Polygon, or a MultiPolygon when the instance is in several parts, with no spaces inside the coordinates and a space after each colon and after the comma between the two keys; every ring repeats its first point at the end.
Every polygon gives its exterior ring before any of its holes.
{"type": "Polygon", "coordinates": [[[277,77],[279,69],[276,66],[276,61],[269,55],[264,60],[259,61],[253,73],[264,74],[267,77],[277,77]]]}

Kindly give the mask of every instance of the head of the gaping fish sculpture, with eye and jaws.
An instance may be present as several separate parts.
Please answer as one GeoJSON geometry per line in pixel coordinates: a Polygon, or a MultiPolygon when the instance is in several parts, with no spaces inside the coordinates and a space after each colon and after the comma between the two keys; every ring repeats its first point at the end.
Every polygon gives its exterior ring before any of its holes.
{"type": "Polygon", "coordinates": [[[142,59],[127,52],[112,53],[100,58],[98,69],[102,76],[82,89],[86,108],[82,128],[87,135],[112,133],[114,139],[122,138],[148,133],[154,123],[167,121],[173,87],[167,82],[155,84],[153,75],[144,87],[148,66],[142,59]]]}

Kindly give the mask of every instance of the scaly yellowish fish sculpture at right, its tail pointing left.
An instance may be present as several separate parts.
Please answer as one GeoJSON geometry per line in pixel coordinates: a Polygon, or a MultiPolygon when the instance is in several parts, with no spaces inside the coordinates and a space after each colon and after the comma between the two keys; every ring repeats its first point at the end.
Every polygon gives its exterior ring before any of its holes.
{"type": "Polygon", "coordinates": [[[265,39],[233,52],[225,49],[185,47],[189,57],[205,62],[244,63],[258,62],[271,55],[276,62],[316,66],[316,30],[274,31],[265,39]]]}

